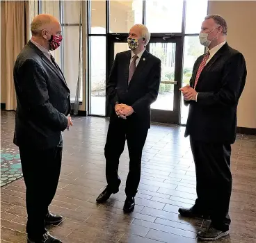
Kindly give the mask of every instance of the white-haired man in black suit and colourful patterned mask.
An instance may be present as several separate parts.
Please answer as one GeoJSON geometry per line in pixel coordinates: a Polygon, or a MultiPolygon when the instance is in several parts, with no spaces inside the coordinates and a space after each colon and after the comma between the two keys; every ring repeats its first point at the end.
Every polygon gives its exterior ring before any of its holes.
{"type": "Polygon", "coordinates": [[[105,146],[108,185],[99,194],[97,202],[104,203],[119,190],[119,158],[127,140],[130,161],[125,212],[134,210],[134,196],[141,178],[141,156],[150,128],[150,105],[157,99],[160,85],[161,61],[145,50],[149,40],[146,26],[136,24],[131,28],[128,37],[131,51],[116,55],[106,84],[106,94],[112,106],[105,146]]]}

